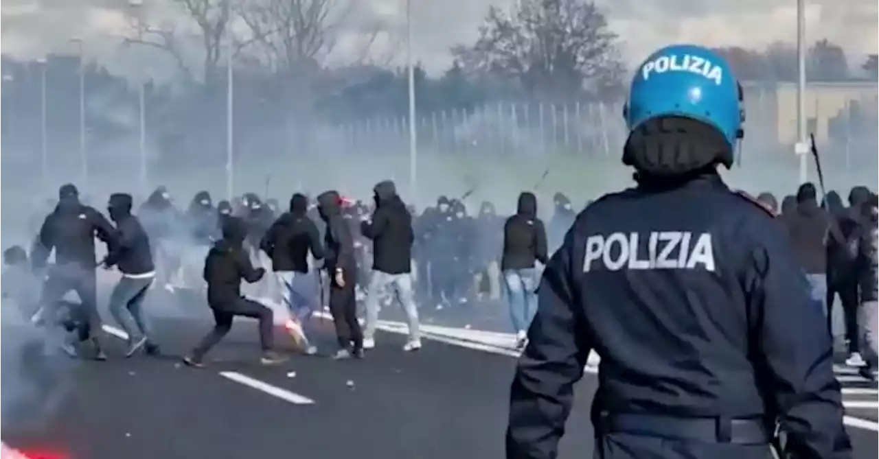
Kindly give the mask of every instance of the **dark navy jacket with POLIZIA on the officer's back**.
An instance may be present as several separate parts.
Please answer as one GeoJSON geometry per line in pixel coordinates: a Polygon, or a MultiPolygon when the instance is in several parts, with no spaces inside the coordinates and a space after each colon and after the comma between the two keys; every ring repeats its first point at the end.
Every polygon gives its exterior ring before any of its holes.
{"type": "Polygon", "coordinates": [[[794,457],[850,457],[824,313],[777,222],[719,176],[589,205],[539,298],[508,459],[556,457],[591,350],[593,424],[607,412],[777,418],[794,457]]]}

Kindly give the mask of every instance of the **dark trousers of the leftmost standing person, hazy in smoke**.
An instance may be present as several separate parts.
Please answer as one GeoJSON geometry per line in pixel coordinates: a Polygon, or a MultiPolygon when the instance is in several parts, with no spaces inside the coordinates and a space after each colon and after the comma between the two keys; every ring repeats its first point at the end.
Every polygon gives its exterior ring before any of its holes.
{"type": "Polygon", "coordinates": [[[96,331],[100,330],[101,320],[98,315],[98,285],[94,269],[76,266],[56,266],[49,272],[40,292],[40,305],[46,308],[48,317],[58,323],[59,308],[69,307],[69,318],[63,320],[76,329],[79,341],[92,340],[98,346],[96,331]],[[79,304],[63,301],[69,291],[76,292],[79,304]],[[75,325],[74,325],[75,324],[75,325]]]}

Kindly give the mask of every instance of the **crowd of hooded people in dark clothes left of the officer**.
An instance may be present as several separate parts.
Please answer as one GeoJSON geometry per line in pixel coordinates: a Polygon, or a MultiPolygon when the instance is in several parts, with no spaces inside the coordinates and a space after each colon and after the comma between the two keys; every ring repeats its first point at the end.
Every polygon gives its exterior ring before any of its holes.
{"type": "Polygon", "coordinates": [[[159,352],[143,307],[151,289],[207,296],[215,326],[185,358],[193,366],[203,364],[236,315],[259,320],[265,363],[283,360],[272,351],[272,326],[278,323],[272,305],[286,306],[285,328],[309,355],[317,353],[309,318],[328,309],[338,334],[334,357],[347,358],[374,347],[383,305],[401,306],[410,329],[404,350],[412,351],[421,348],[419,309],[466,314],[471,305],[506,300],[516,344],[523,347],[536,311],[538,267],[574,219],[562,193],[556,193],[548,226],[530,192],[521,193],[510,217],[498,215],[489,202],[470,216],[460,199],[448,197],[416,212],[390,181],[375,186],[369,204],[328,191],[316,198],[296,193],[280,209],[277,200],[256,193],[215,203],[200,191],[180,208],[159,187],[136,212],[131,195],[113,194],[106,219],[81,201],[74,185],[62,186],[58,201],[35,225],[32,253],[20,246],[4,253],[4,284],[20,287],[13,296],[25,315],[70,332],[75,339],[62,346],[69,355],[105,359],[94,333],[100,320],[95,270],[116,268],[121,277],[108,311],[129,337],[127,356],[159,352]],[[96,237],[106,246],[101,262],[96,237]],[[47,263],[53,252],[54,263],[47,263]],[[45,282],[15,280],[25,278],[45,282]],[[64,299],[69,291],[79,303],[64,299]],[[359,305],[366,319],[362,330],[359,305]]]}

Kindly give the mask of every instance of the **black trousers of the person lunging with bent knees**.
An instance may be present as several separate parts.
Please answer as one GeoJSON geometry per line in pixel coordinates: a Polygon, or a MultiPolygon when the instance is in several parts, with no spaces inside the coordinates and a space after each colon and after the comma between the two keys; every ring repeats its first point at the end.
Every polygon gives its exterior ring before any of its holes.
{"type": "Polygon", "coordinates": [[[201,360],[211,348],[222,341],[223,337],[232,329],[232,321],[235,316],[250,317],[259,320],[259,344],[263,352],[274,347],[272,335],[272,321],[274,312],[271,309],[252,299],[238,298],[222,305],[212,305],[214,311],[214,329],[212,329],[199,345],[193,349],[193,359],[201,360]]]}

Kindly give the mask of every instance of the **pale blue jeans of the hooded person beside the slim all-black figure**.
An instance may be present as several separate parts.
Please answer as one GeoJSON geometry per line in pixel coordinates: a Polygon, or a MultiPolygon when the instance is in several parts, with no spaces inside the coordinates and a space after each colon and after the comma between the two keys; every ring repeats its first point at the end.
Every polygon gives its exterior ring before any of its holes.
{"type": "Polygon", "coordinates": [[[409,341],[420,340],[421,330],[418,324],[418,307],[415,305],[415,291],[412,289],[412,275],[388,274],[376,270],[373,270],[367,289],[367,320],[363,337],[367,340],[375,337],[375,324],[379,320],[379,295],[382,291],[393,295],[394,299],[403,306],[406,323],[409,326],[409,341]]]}

